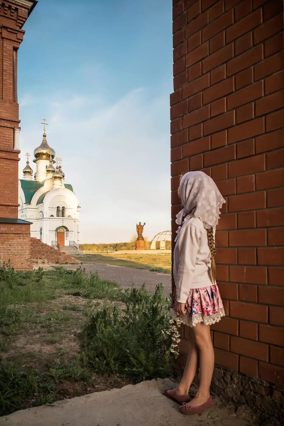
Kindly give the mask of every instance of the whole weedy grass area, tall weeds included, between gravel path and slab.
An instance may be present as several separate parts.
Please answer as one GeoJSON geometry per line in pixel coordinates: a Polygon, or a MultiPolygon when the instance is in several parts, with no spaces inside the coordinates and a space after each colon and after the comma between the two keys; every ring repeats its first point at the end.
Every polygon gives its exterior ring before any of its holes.
{"type": "Polygon", "coordinates": [[[6,264],[0,291],[0,415],[52,403],[75,382],[75,394],[84,394],[94,373],[136,383],[168,371],[161,285],[152,296],[82,268],[14,272],[6,264]]]}

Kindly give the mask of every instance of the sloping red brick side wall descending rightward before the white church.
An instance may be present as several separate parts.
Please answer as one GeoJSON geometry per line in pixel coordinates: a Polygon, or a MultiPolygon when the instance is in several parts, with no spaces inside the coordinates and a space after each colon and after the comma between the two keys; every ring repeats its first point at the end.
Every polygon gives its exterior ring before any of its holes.
{"type": "Polygon", "coordinates": [[[32,262],[41,263],[81,263],[69,254],[55,250],[54,247],[44,244],[37,238],[31,238],[32,262]]]}

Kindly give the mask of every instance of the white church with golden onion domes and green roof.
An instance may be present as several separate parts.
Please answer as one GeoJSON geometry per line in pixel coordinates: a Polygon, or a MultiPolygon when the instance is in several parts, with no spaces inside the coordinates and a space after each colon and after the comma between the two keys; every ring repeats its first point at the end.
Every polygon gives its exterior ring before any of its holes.
{"type": "Polygon", "coordinates": [[[23,179],[19,179],[19,219],[32,222],[31,237],[48,245],[74,246],[80,241],[80,206],[71,184],[65,183],[61,158],[46,141],[45,118],[43,141],[34,150],[36,172],[32,178],[29,153],[23,179]],[[53,166],[56,160],[56,168],[53,166]]]}

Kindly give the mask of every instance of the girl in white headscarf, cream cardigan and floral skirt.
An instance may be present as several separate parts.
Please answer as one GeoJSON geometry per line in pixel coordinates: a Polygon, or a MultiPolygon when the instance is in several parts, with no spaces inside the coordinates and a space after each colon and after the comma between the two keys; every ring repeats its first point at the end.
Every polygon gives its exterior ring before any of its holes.
{"type": "Polygon", "coordinates": [[[173,274],[175,291],[171,315],[189,325],[189,354],[184,374],[176,389],[165,395],[183,404],[184,414],[198,414],[212,406],[210,383],[214,368],[214,351],[210,324],[224,317],[224,307],[215,281],[215,228],[225,202],[214,181],[203,172],[186,173],[180,181],[178,195],[183,209],[177,214],[181,225],[175,239],[173,274]],[[184,220],[183,220],[184,218],[184,220]],[[189,387],[196,372],[200,383],[189,402],[189,387]]]}

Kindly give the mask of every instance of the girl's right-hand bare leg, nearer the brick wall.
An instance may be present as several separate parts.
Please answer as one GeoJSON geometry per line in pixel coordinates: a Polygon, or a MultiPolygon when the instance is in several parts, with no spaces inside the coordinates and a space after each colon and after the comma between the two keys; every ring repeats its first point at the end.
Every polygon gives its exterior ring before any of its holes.
{"type": "Polygon", "coordinates": [[[203,322],[192,328],[195,343],[199,349],[199,388],[195,397],[190,401],[191,407],[204,404],[210,396],[210,384],[214,369],[214,351],[210,335],[210,326],[203,322]]]}

